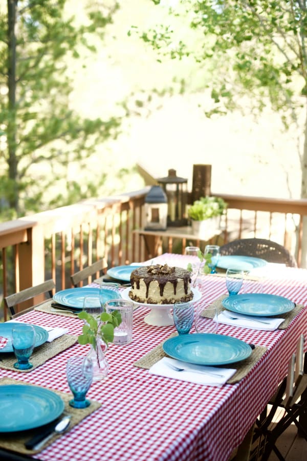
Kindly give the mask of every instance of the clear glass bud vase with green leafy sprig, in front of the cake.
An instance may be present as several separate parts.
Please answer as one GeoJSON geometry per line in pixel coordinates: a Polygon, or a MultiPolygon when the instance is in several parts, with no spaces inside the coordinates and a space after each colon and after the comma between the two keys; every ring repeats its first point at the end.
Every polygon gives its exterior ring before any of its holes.
{"type": "Polygon", "coordinates": [[[98,318],[82,311],[78,317],[84,320],[82,334],[78,336],[78,343],[90,344],[89,356],[93,361],[93,380],[104,379],[108,373],[108,363],[105,357],[107,344],[114,338],[114,328],[121,324],[121,314],[118,311],[112,313],[102,312],[98,318]]]}

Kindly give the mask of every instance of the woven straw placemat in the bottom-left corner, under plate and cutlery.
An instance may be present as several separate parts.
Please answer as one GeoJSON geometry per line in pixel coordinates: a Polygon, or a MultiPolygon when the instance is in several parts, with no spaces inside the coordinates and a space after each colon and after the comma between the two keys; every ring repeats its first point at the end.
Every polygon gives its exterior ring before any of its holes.
{"type": "MultiPolygon", "coordinates": [[[[18,381],[17,379],[6,378],[6,377],[0,378],[0,386],[1,385],[14,385],[14,384],[40,387],[40,386],[32,385],[30,383],[24,383],[24,382],[18,381]]],[[[45,450],[45,448],[48,445],[52,444],[57,438],[69,432],[74,426],[79,424],[80,421],[84,419],[86,416],[89,416],[91,413],[93,413],[95,410],[101,407],[101,403],[96,402],[96,400],[90,400],[91,405],[89,407],[73,408],[69,405],[69,401],[73,398],[73,394],[61,392],[61,391],[58,391],[56,389],[51,389],[51,388],[46,388],[46,389],[51,390],[52,392],[54,392],[55,394],[59,395],[62,398],[65,407],[60,417],[64,415],[71,415],[70,425],[68,426],[67,430],[61,434],[54,433],[54,435],[49,440],[46,440],[46,443],[39,450],[29,450],[25,447],[25,443],[28,442],[28,440],[30,440],[34,435],[36,435],[39,432],[39,429],[40,429],[39,427],[35,429],[28,429],[27,431],[0,433],[0,447],[1,448],[4,448],[5,450],[14,451],[17,453],[28,454],[28,455],[39,453],[40,451],[45,450]]]]}

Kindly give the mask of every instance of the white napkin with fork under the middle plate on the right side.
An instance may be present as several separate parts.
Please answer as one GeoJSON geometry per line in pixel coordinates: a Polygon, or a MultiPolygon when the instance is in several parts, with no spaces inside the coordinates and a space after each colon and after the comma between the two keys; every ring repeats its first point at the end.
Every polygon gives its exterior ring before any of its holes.
{"type": "Polygon", "coordinates": [[[267,330],[274,331],[279,325],[283,322],[284,318],[272,318],[272,317],[257,317],[249,316],[243,314],[237,314],[236,312],[224,313],[222,311],[217,316],[217,320],[221,324],[232,325],[233,327],[249,328],[250,330],[267,330]],[[233,320],[228,317],[236,317],[236,320],[233,320]],[[260,322],[259,322],[260,320],[260,322]],[[261,323],[266,322],[266,323],[261,323]]]}

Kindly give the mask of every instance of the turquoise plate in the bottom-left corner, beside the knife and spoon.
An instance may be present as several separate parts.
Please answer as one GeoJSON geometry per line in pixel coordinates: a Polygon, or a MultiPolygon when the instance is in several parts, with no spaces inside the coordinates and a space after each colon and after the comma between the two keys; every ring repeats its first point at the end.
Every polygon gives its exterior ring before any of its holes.
{"type": "Polygon", "coordinates": [[[33,429],[51,423],[64,410],[59,395],[29,385],[0,386],[0,432],[33,429]]]}

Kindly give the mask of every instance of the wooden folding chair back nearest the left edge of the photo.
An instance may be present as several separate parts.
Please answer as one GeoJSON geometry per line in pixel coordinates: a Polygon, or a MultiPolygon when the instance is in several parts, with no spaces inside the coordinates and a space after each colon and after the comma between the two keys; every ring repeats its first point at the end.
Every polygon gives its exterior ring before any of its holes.
{"type": "Polygon", "coordinates": [[[33,307],[30,307],[28,309],[24,309],[22,311],[16,312],[15,307],[17,304],[23,303],[24,301],[27,301],[28,299],[31,299],[34,296],[37,296],[39,294],[48,293],[49,296],[52,298],[53,296],[52,290],[54,288],[55,288],[55,283],[53,279],[51,278],[50,280],[47,280],[46,282],[43,282],[39,285],[35,285],[34,287],[26,288],[25,290],[21,290],[18,293],[14,293],[14,294],[10,294],[9,296],[6,296],[4,298],[4,305],[8,309],[10,318],[15,318],[33,309],[33,307]]]}

